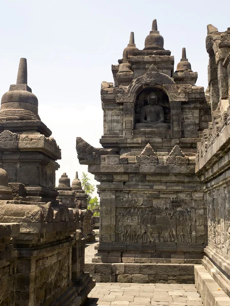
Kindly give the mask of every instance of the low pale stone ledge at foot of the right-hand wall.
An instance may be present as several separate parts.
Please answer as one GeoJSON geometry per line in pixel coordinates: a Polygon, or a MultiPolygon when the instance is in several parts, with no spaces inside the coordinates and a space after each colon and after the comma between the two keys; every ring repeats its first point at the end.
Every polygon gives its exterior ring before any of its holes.
{"type": "Polygon", "coordinates": [[[230,298],[203,266],[195,266],[195,285],[204,305],[229,306],[230,298]]]}

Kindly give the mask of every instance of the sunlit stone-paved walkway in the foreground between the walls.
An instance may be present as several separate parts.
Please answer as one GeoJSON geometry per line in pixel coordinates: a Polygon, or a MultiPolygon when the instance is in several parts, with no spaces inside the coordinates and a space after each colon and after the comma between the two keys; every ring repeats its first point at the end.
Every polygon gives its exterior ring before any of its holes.
{"type": "Polygon", "coordinates": [[[97,283],[88,306],[202,306],[195,285],[97,283]]]}

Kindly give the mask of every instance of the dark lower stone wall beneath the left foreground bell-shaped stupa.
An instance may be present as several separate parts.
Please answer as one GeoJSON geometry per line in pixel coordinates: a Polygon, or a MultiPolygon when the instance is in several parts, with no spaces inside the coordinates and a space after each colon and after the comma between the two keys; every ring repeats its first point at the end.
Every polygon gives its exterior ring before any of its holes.
{"type": "MultiPolygon", "coordinates": [[[[9,212],[5,205],[9,211],[14,208],[13,204],[0,201],[5,213],[9,212]]],[[[27,213],[31,211],[37,218],[35,206],[29,203],[26,206],[27,213]]],[[[81,305],[94,283],[83,271],[85,240],[77,230],[78,222],[57,219],[47,223],[25,222],[17,218],[20,223],[0,224],[1,303],[81,305]]],[[[2,216],[0,219],[3,221],[2,216]]]]}

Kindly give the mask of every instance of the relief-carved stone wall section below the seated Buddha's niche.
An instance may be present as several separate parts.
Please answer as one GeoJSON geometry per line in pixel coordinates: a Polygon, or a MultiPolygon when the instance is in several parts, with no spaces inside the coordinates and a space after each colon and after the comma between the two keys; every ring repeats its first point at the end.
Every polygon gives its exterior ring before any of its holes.
{"type": "Polygon", "coordinates": [[[206,208],[203,185],[193,174],[194,157],[178,156],[183,165],[164,154],[152,156],[155,162],[150,162],[151,157],[136,151],[126,156],[127,164],[117,157],[106,156],[105,164],[89,166],[101,182],[101,257],[93,261],[132,263],[138,252],[140,260],[199,263],[206,242],[206,208]],[[109,176],[111,182],[105,183],[109,176]]]}

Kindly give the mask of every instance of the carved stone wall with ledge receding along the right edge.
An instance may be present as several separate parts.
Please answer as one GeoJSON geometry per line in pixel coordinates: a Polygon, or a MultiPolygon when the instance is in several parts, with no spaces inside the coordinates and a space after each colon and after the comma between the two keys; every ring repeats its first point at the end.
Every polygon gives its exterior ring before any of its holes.
{"type": "Polygon", "coordinates": [[[204,305],[230,304],[229,30],[221,33],[210,24],[206,38],[210,56],[207,99],[212,122],[198,144],[196,174],[204,183],[208,246],[204,249],[203,267],[195,268],[195,282],[204,305]]]}

